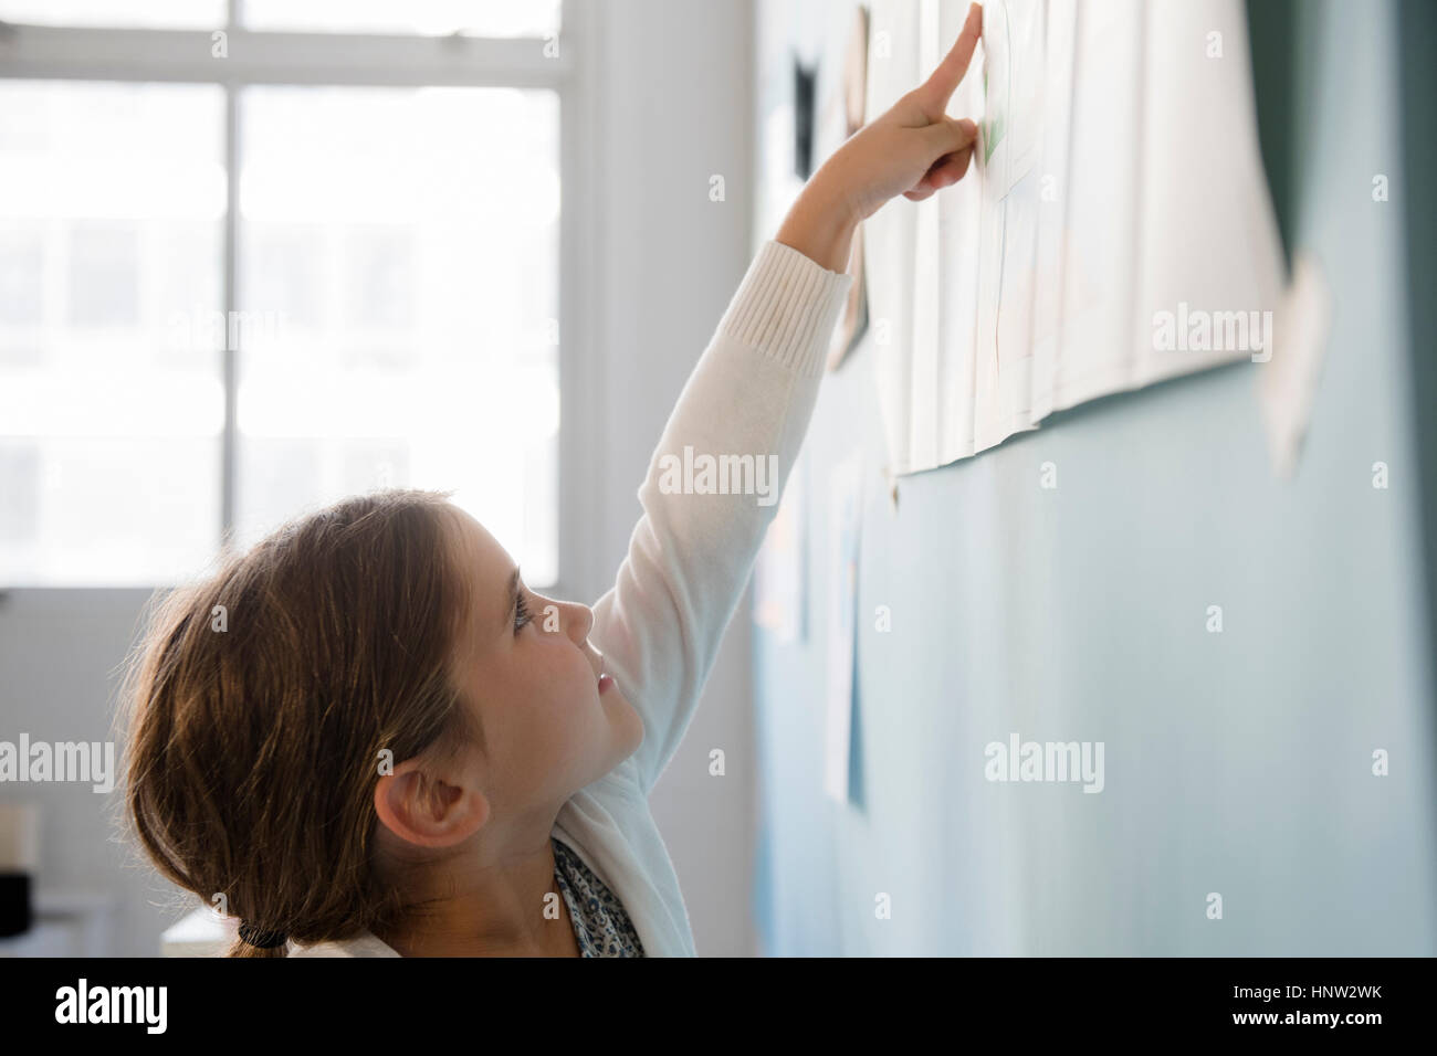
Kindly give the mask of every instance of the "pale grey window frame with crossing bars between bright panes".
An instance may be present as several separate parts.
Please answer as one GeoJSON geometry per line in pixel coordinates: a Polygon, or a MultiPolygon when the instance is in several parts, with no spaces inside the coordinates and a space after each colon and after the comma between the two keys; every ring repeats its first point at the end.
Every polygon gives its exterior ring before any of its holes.
{"type": "MultiPolygon", "coordinates": [[[[558,579],[530,583],[556,596],[591,593],[601,523],[602,437],[593,401],[579,398],[599,381],[595,287],[598,106],[593,4],[560,0],[559,53],[545,37],[397,36],[378,33],[267,32],[243,27],[243,0],[228,0],[226,24],[214,29],[55,27],[0,22],[0,79],[214,85],[224,92],[226,213],[221,234],[221,310],[237,310],[239,98],[256,85],[343,88],[537,88],[559,108],[559,451],[558,579]],[[227,57],[211,57],[224,33],[227,57]]],[[[220,532],[217,552],[233,547],[236,524],[237,355],[224,342],[221,381],[220,532]]],[[[484,457],[477,453],[476,457],[484,457]]],[[[161,586],[161,585],[155,585],[161,586]]],[[[168,586],[168,585],[162,585],[168,586]]],[[[0,602],[49,595],[144,596],[154,588],[0,585],[0,602]]],[[[23,608],[29,608],[27,605],[23,608]]]]}

